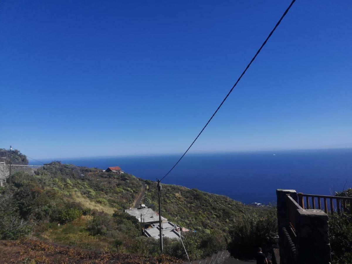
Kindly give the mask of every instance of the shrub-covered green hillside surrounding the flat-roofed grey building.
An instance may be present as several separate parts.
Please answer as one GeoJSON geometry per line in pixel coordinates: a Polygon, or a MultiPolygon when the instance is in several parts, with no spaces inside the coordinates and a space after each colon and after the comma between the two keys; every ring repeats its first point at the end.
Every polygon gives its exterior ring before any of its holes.
{"type": "MultiPolygon", "coordinates": [[[[60,162],[47,165],[33,176],[17,172],[11,188],[0,189],[0,239],[39,238],[94,252],[158,256],[159,242],[141,236],[137,219],[124,212],[144,184],[143,202],[150,205],[155,182],[60,162]]],[[[254,211],[226,196],[163,184],[163,216],[196,230],[183,239],[191,259],[228,247],[234,220],[254,211]]],[[[164,253],[186,258],[178,240],[165,238],[164,253]]]]}

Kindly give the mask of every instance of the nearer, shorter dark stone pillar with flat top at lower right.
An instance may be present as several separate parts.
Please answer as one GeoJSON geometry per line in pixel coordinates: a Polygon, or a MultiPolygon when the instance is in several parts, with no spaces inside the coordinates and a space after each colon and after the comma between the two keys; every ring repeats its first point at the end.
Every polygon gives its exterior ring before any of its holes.
{"type": "Polygon", "coordinates": [[[328,215],[322,210],[297,210],[297,263],[331,262],[328,215]]]}

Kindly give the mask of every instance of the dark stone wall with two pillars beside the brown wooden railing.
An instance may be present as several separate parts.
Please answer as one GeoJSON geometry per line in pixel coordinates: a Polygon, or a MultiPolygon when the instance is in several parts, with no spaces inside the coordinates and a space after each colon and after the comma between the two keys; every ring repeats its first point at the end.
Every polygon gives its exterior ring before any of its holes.
{"type": "Polygon", "coordinates": [[[287,195],[290,195],[295,203],[297,202],[296,191],[277,189],[276,195],[280,264],[329,264],[331,248],[328,215],[322,210],[303,209],[296,204],[297,209],[293,212],[294,217],[291,218],[294,222],[293,228],[289,222],[287,195]]]}

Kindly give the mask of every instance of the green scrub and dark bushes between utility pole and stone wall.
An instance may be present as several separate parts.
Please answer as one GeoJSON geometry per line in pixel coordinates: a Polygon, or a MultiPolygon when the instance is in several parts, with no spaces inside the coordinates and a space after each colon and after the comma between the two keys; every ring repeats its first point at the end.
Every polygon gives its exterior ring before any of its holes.
{"type": "MultiPolygon", "coordinates": [[[[158,211],[157,197],[154,196],[156,183],[147,183],[152,191],[146,193],[144,202],[148,204],[154,198],[152,204],[155,205],[155,211],[158,211]]],[[[227,196],[163,184],[162,215],[171,222],[197,231],[199,237],[197,235],[185,237],[185,244],[189,243],[187,249],[193,249],[191,255],[196,259],[225,248],[229,249],[233,256],[253,258],[258,246],[266,252],[272,244],[275,244],[274,237],[277,234],[275,206],[252,208],[227,196]],[[203,243],[203,240],[208,242],[203,243]],[[212,244],[211,241],[216,243],[212,244]],[[202,250],[192,247],[204,244],[212,246],[203,247],[202,250]]],[[[182,246],[181,243],[179,246],[182,246]]],[[[176,248],[173,252],[180,254],[174,253],[173,256],[185,259],[186,255],[182,248],[176,248]]]]}

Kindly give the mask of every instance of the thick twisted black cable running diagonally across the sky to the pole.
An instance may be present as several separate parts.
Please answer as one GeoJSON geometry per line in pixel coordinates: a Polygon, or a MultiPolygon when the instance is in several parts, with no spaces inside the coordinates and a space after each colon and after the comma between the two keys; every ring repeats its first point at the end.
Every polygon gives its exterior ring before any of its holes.
{"type": "Polygon", "coordinates": [[[203,129],[199,132],[198,136],[193,140],[192,144],[188,147],[188,149],[186,150],[186,152],[183,153],[183,155],[181,156],[181,158],[176,162],[176,164],[168,171],[168,173],[165,174],[164,177],[161,178],[160,181],[162,181],[166,176],[168,176],[168,174],[176,167],[176,165],[181,161],[181,159],[184,157],[184,155],[186,155],[186,153],[188,152],[188,150],[191,148],[191,146],[194,144],[194,142],[196,142],[196,140],[199,138],[200,134],[203,132],[203,130],[207,127],[207,125],[209,124],[209,122],[213,119],[214,115],[218,112],[218,110],[220,109],[220,107],[222,106],[222,104],[225,102],[225,100],[228,98],[228,96],[231,94],[232,90],[236,87],[237,83],[241,80],[242,76],[246,73],[247,69],[251,66],[252,62],[254,61],[254,59],[256,59],[257,55],[259,54],[259,52],[262,50],[262,48],[264,47],[264,45],[266,44],[266,42],[269,40],[269,38],[271,37],[272,33],[274,33],[274,31],[276,30],[276,28],[278,27],[278,25],[281,23],[281,20],[285,17],[285,15],[287,14],[287,12],[290,10],[291,6],[293,5],[293,3],[296,0],[293,0],[291,2],[291,4],[289,5],[289,7],[286,9],[286,11],[283,13],[283,15],[281,16],[281,18],[279,19],[279,21],[276,23],[274,29],[270,32],[269,36],[265,39],[265,41],[263,42],[262,46],[260,46],[259,50],[257,51],[256,55],[254,55],[254,57],[251,59],[250,63],[247,65],[247,67],[245,68],[245,70],[243,71],[243,73],[240,75],[240,77],[238,78],[238,80],[235,82],[235,84],[232,86],[230,92],[227,93],[227,95],[225,96],[224,100],[222,100],[222,102],[220,103],[219,107],[216,109],[216,111],[214,112],[214,114],[212,115],[212,117],[210,117],[210,119],[208,120],[207,124],[205,124],[205,126],[203,127],[203,129]]]}

